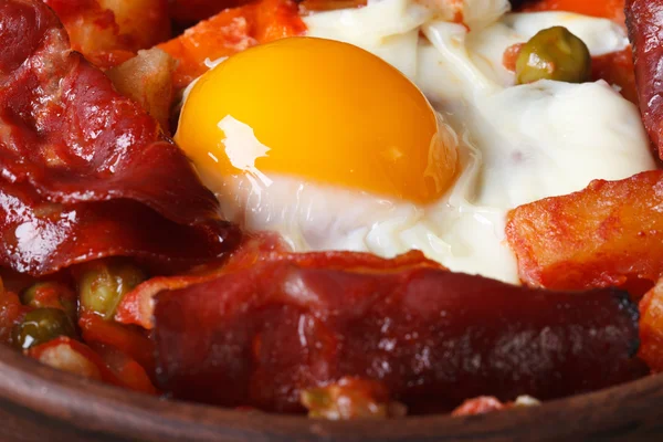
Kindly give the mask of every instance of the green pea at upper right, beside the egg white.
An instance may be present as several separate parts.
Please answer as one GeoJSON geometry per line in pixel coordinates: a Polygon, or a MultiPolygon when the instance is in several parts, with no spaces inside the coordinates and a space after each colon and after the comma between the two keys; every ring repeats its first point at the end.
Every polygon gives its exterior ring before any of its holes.
{"type": "Polygon", "coordinates": [[[518,84],[539,80],[582,83],[591,76],[591,56],[582,40],[564,27],[544,29],[534,35],[516,60],[518,84]]]}

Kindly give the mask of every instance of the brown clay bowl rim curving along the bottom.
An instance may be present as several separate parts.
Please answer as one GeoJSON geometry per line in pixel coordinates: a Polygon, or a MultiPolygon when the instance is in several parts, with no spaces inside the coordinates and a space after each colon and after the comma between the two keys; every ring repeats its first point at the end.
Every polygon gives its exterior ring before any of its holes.
{"type": "Polygon", "coordinates": [[[0,346],[1,441],[663,441],[663,376],[492,414],[327,422],[159,400],[0,346]]]}

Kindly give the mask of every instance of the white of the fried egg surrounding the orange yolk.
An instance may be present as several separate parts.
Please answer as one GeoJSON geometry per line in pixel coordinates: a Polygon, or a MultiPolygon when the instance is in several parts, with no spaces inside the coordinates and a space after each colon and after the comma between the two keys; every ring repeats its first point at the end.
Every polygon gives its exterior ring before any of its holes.
{"type": "MultiPolygon", "coordinates": [[[[444,151],[457,155],[453,186],[433,200],[415,201],[378,188],[330,182],[323,172],[317,179],[315,172],[292,173],[287,167],[266,170],[260,158],[278,155],[280,147],[271,145],[262,127],[230,113],[215,122],[221,138],[218,150],[207,155],[228,158],[235,172],[219,172],[197,161],[223,214],[249,230],[280,232],[295,251],[393,256],[418,249],[451,270],[517,283],[516,261],[504,235],[509,209],[655,165],[638,109],[611,85],[543,81],[515,86],[514,74],[502,64],[508,46],[551,25],[569,28],[592,55],[623,50],[628,40],[621,28],[566,12],[507,10],[506,0],[373,0],[361,9],[306,17],[308,35],[362,48],[419,86],[438,112],[444,151]],[[459,17],[464,23],[454,22],[459,17]]],[[[379,69],[355,69],[356,75],[373,76],[375,87],[380,86],[379,69]]],[[[324,66],[319,74],[325,75],[324,66]]],[[[351,84],[345,88],[355,93],[351,84]]],[[[392,106],[398,108],[402,97],[394,96],[392,106]]],[[[324,108],[326,98],[318,101],[324,108]]],[[[370,103],[355,106],[369,108],[370,103]]],[[[320,130],[327,124],[323,117],[314,123],[320,130]]],[[[365,131],[380,124],[399,122],[366,123],[365,131]]],[[[329,136],[311,141],[311,155],[329,136]]],[[[181,137],[178,143],[186,144],[181,137]]],[[[403,149],[385,151],[393,161],[409,155],[403,149]]],[[[354,155],[351,149],[348,155],[354,155]]],[[[366,170],[370,175],[372,169],[366,170]]]]}

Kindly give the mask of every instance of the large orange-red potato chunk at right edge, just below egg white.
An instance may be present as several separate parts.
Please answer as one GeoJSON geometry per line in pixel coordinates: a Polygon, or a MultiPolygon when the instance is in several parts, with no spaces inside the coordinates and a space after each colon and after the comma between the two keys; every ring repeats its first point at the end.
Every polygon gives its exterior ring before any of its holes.
{"type": "Polygon", "coordinates": [[[663,274],[663,171],[520,206],[508,213],[520,280],[555,290],[655,282],[663,274]]]}

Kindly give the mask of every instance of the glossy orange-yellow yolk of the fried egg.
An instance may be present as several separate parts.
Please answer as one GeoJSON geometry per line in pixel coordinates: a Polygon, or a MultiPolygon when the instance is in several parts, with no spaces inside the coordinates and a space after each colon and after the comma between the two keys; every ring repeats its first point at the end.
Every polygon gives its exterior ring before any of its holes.
{"type": "Polygon", "coordinates": [[[206,176],[243,172],[229,157],[220,127],[227,117],[252,128],[267,148],[252,165],[266,177],[427,203],[451,186],[456,169],[453,136],[417,86],[381,59],[337,41],[278,40],[198,80],[175,140],[206,176]]]}

